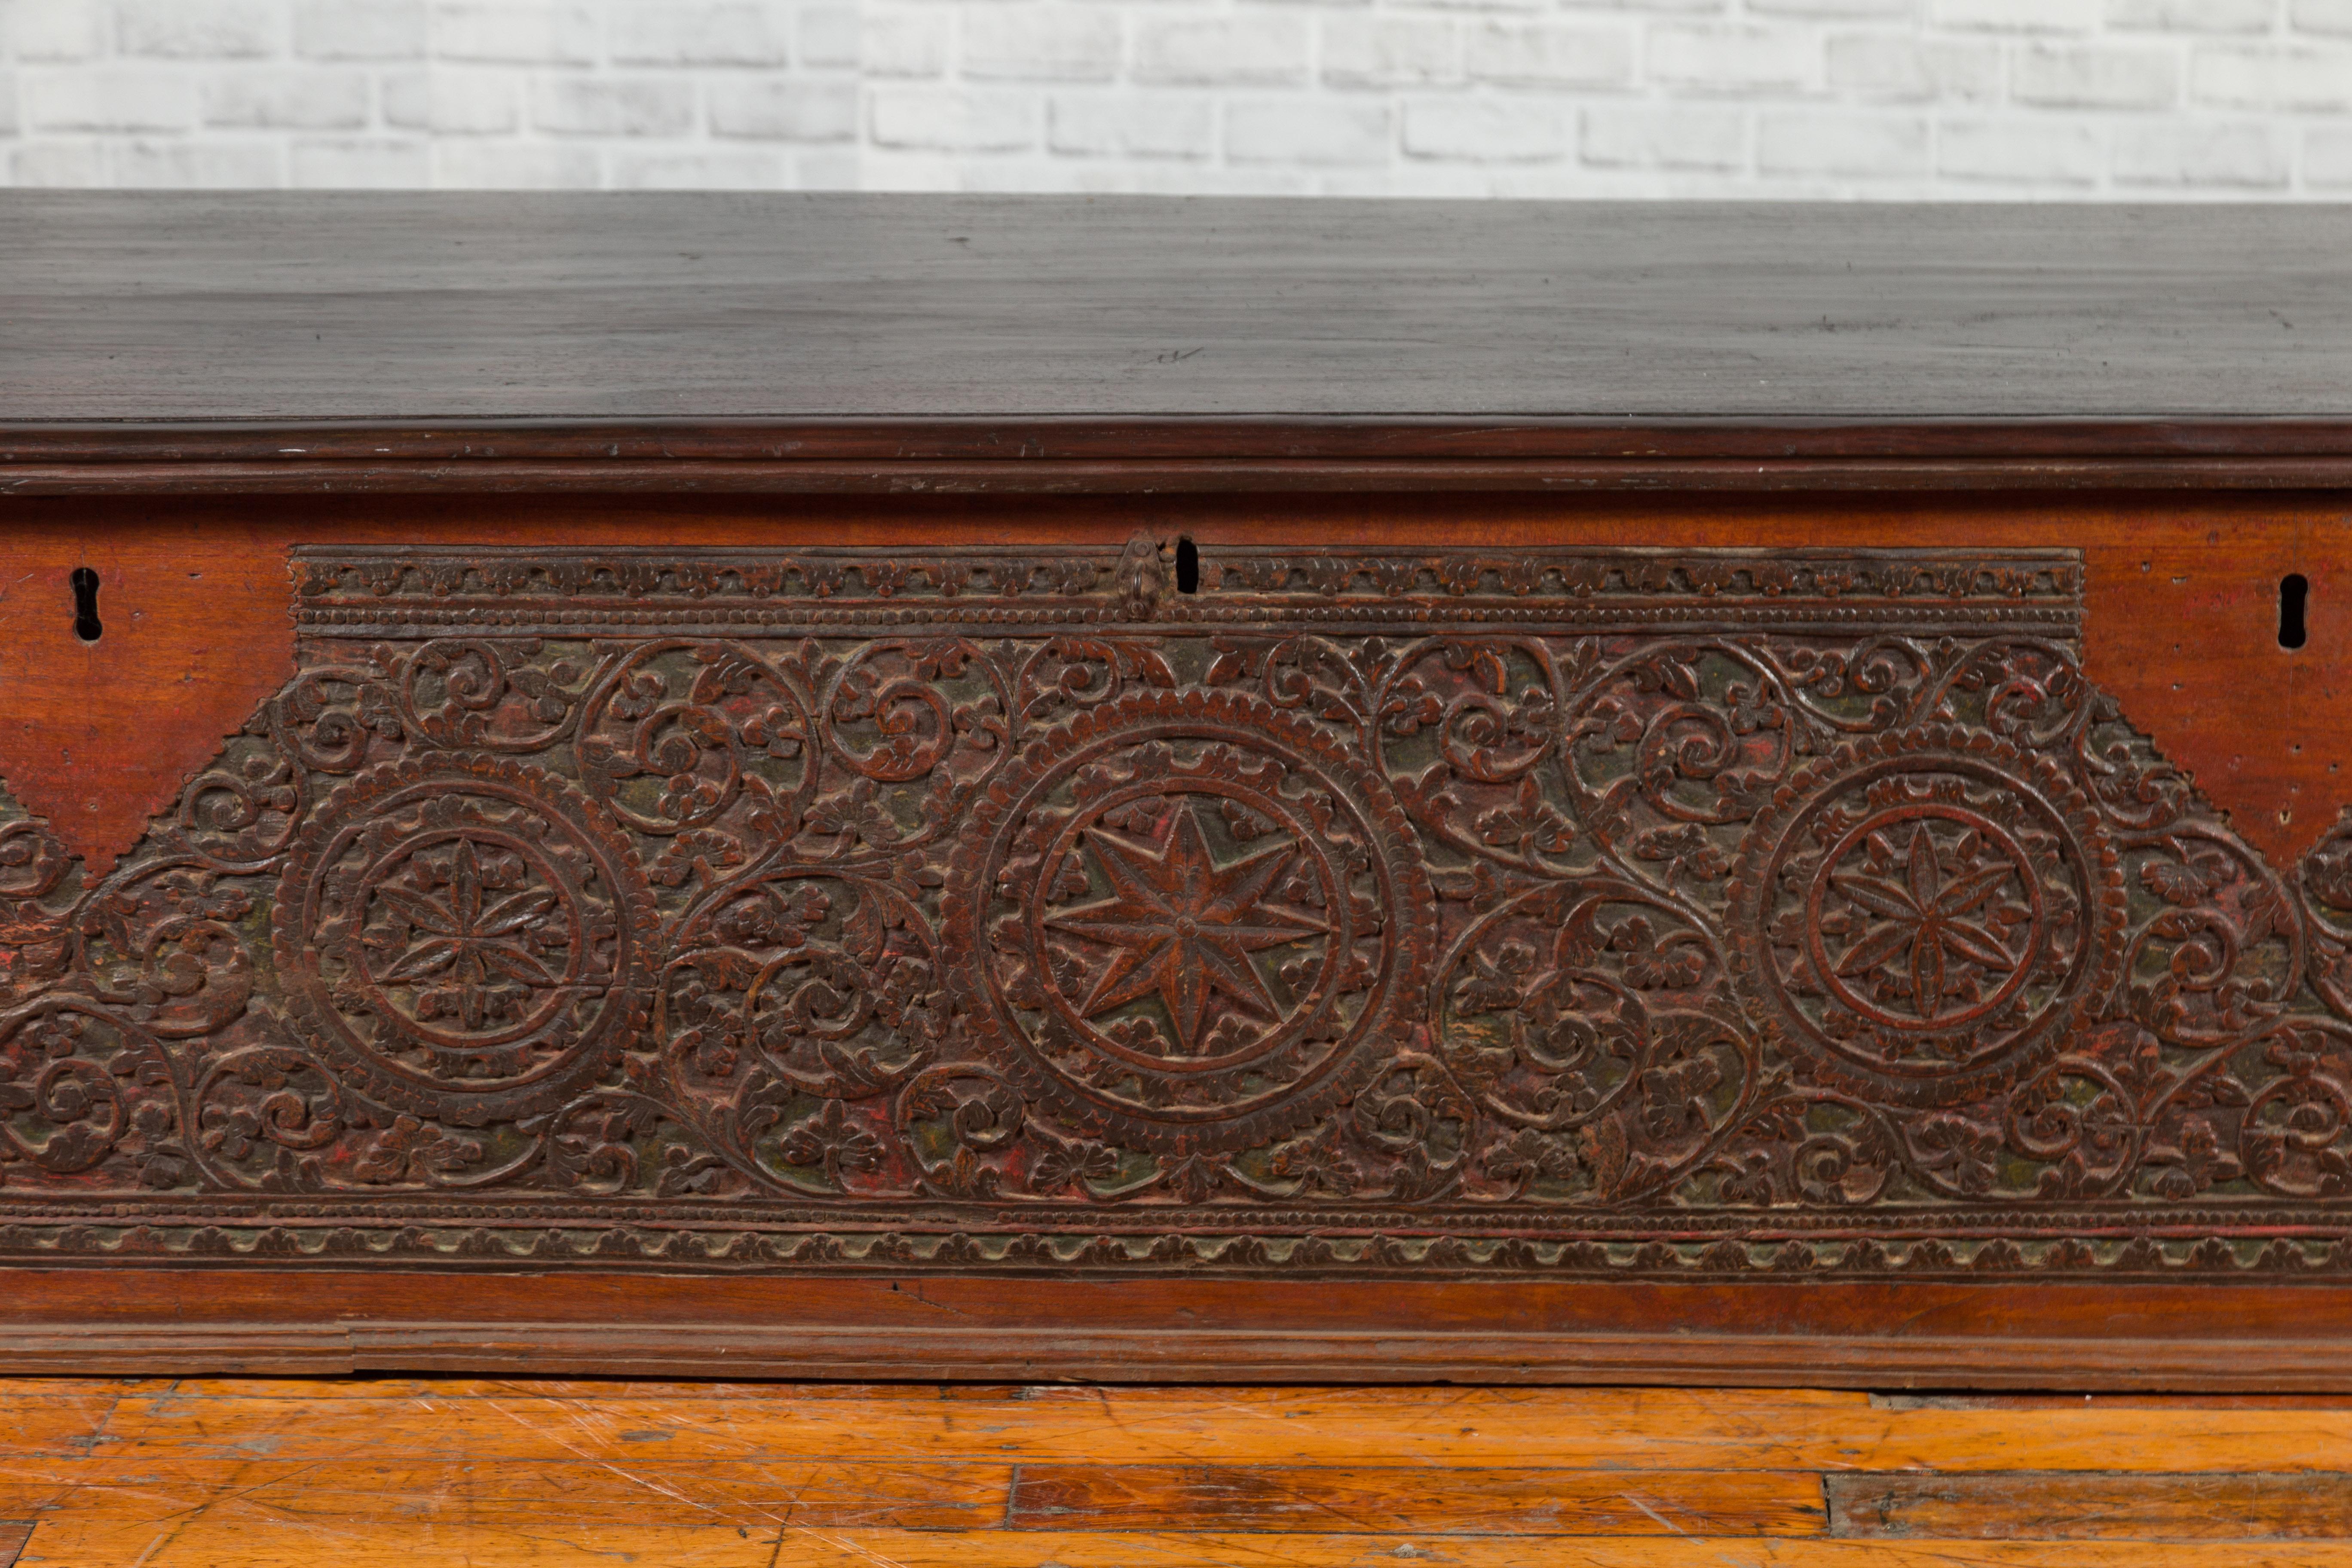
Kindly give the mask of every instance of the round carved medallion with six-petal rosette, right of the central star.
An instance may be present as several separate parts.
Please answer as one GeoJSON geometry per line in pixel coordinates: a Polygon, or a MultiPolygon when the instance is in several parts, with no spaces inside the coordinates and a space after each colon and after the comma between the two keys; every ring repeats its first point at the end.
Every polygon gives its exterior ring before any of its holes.
{"type": "Polygon", "coordinates": [[[2049,757],[1917,729],[1757,816],[1731,879],[1740,999],[1853,1093],[1950,1105],[2051,1060],[2122,966],[2117,856],[2049,757]]]}

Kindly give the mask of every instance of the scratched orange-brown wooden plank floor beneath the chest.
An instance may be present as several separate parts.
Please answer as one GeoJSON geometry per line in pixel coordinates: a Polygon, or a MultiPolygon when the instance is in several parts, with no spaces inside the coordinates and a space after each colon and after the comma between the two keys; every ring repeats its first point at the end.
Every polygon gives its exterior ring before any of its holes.
{"type": "Polygon", "coordinates": [[[2352,1399],[0,1382],[0,1566],[2352,1568],[2352,1399]]]}

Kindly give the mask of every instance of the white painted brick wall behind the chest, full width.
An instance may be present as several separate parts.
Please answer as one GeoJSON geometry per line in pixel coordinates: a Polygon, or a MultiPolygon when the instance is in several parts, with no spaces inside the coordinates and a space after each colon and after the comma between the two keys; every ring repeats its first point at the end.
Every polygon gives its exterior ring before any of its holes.
{"type": "Polygon", "coordinates": [[[2352,200],[2352,0],[0,0],[0,183],[2352,200]]]}

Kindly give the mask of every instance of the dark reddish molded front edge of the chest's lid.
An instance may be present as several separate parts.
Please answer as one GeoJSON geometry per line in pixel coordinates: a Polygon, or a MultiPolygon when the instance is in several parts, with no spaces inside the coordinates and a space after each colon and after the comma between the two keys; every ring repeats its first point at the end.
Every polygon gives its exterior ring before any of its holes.
{"type": "Polygon", "coordinates": [[[1162,418],[0,425],[0,494],[2274,491],[2352,480],[2340,421],[1162,418]]]}

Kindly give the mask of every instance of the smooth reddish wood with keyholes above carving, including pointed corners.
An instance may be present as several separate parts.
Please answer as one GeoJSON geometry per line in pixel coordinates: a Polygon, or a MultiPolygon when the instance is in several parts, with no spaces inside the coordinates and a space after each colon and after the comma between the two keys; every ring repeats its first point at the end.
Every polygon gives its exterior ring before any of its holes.
{"type": "Polygon", "coordinates": [[[146,818],[242,724],[292,663],[285,552],[336,543],[682,548],[795,543],[1037,545],[1124,541],[1145,527],[1218,543],[1345,538],[1359,545],[1482,548],[1677,545],[2049,545],[2084,550],[2086,668],[2133,722],[2187,769],[2232,825],[2288,865],[2352,802],[2352,679],[2333,649],[2352,635],[2345,503],[2331,494],[2152,498],[1804,496],[1637,498],[1505,496],[1167,496],[1103,501],[978,498],[757,503],[682,496],[442,501],[16,501],[9,550],[31,571],[0,592],[0,635],[42,682],[0,682],[9,788],[66,842],[108,863],[146,818]],[[101,574],[108,642],[73,637],[64,576],[101,574]],[[2279,578],[2312,583],[2300,651],[2277,642],[2279,578]],[[54,675],[47,675],[54,670],[54,675]],[[169,691],[169,703],[155,693],[169,691]],[[2265,724],[2241,703],[2263,693],[2265,724]]]}

